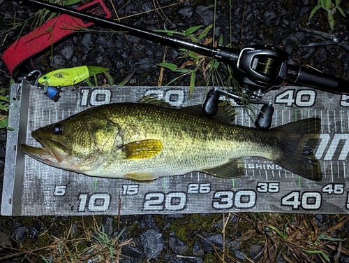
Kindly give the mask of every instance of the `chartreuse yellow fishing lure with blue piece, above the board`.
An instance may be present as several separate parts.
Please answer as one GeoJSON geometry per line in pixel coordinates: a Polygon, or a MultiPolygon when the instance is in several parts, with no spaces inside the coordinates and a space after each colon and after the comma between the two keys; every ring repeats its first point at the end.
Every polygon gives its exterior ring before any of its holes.
{"type": "Polygon", "coordinates": [[[59,100],[59,87],[74,86],[91,76],[107,72],[109,69],[101,66],[75,66],[69,69],[57,69],[38,78],[38,84],[43,85],[45,95],[53,101],[59,100]]]}

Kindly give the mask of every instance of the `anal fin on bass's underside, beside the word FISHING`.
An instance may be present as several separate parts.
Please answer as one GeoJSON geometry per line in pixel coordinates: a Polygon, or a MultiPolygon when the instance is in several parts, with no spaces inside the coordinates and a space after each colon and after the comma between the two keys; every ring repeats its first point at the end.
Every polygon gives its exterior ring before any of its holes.
{"type": "Polygon", "coordinates": [[[231,159],[227,164],[200,171],[202,173],[207,173],[210,176],[235,178],[245,175],[245,164],[242,159],[231,159]]]}

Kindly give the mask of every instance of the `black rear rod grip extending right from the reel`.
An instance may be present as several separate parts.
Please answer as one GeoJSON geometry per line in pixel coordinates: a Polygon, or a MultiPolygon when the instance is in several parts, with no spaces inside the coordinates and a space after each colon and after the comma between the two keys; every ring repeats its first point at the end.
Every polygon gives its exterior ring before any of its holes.
{"type": "Polygon", "coordinates": [[[286,80],[335,94],[349,94],[349,82],[313,69],[288,65],[286,80]]]}

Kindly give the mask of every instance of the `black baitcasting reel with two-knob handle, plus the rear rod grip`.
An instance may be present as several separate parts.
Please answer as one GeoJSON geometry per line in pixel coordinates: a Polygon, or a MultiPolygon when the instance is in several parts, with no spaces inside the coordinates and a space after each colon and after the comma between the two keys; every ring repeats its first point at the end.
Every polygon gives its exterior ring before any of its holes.
{"type": "Polygon", "coordinates": [[[272,124],[274,108],[272,102],[262,101],[262,98],[269,90],[280,87],[286,81],[335,94],[349,94],[348,81],[288,64],[288,57],[288,52],[272,45],[251,45],[242,49],[232,64],[241,92],[237,92],[236,88],[230,92],[210,90],[202,112],[216,115],[221,94],[234,99],[238,104],[243,104],[244,101],[263,104],[255,126],[267,130],[272,124]]]}

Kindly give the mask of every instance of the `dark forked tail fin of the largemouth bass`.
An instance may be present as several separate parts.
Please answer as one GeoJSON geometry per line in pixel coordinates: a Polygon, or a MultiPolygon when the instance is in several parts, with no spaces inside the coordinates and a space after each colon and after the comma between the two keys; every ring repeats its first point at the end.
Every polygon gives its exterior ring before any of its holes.
{"type": "Polygon", "coordinates": [[[280,140],[281,148],[281,154],[274,163],[304,178],[320,181],[321,166],[313,153],[320,129],[320,118],[299,120],[272,129],[280,140]]]}

